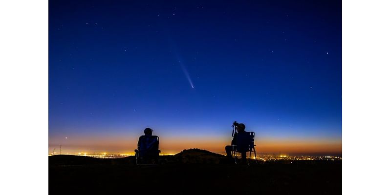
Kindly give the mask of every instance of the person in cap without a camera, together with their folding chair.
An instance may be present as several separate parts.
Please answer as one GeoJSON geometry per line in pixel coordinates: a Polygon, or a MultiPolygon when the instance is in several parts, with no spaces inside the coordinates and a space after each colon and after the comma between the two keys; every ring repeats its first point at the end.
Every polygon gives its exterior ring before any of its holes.
{"type": "Polygon", "coordinates": [[[136,153],[137,164],[156,164],[159,160],[159,137],[152,136],[152,129],[146,128],[144,136],[138,138],[136,153]]]}

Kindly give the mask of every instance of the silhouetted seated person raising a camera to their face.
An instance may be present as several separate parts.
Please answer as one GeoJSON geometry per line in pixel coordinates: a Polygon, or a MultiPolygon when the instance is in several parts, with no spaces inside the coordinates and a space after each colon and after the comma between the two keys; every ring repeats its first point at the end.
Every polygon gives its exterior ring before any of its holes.
{"type": "Polygon", "coordinates": [[[246,126],[243,123],[239,123],[237,125],[234,124],[234,126],[235,126],[234,138],[231,141],[231,145],[225,146],[225,152],[227,153],[228,160],[230,162],[234,161],[231,154],[232,151],[241,153],[241,159],[242,159],[241,161],[243,164],[246,164],[246,157],[247,157],[246,152],[248,152],[248,149],[245,146],[238,145],[238,134],[239,136],[243,135],[244,137],[245,136],[244,132],[246,132],[244,131],[244,129],[246,128],[246,126]]]}

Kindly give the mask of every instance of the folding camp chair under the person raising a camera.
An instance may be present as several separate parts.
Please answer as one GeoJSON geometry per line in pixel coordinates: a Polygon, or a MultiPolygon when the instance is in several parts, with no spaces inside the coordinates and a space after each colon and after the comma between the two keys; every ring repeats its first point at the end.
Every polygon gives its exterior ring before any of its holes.
{"type": "Polygon", "coordinates": [[[238,163],[237,153],[250,152],[249,163],[251,160],[251,152],[255,155],[255,163],[257,163],[257,153],[255,152],[255,132],[240,132],[237,135],[237,144],[232,145],[232,152],[234,153],[235,163],[238,163]]]}

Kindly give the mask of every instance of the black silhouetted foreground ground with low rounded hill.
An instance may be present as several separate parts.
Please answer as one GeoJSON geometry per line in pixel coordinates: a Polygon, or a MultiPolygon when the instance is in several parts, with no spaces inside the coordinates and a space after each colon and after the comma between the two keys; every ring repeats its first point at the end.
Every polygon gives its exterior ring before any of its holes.
{"type": "Polygon", "coordinates": [[[161,156],[159,166],[136,166],[133,156],[49,156],[49,194],[342,194],[342,161],[252,163],[192,150],[161,156]]]}

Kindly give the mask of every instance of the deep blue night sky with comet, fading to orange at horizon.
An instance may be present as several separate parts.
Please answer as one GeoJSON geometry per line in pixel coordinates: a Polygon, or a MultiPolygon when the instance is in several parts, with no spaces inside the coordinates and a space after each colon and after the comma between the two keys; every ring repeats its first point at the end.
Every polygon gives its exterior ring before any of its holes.
{"type": "Polygon", "coordinates": [[[342,2],[49,1],[49,152],[342,153],[342,2]]]}

